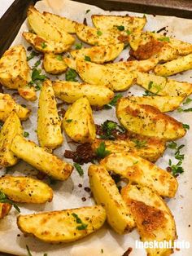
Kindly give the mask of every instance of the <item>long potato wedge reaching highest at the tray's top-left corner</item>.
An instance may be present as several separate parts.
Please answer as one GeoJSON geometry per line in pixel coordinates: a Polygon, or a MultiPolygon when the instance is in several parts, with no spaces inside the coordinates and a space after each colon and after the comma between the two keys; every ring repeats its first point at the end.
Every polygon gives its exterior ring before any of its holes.
{"type": "Polygon", "coordinates": [[[37,9],[33,6],[28,8],[28,24],[37,36],[45,38],[46,40],[62,42],[63,45],[72,45],[75,38],[72,37],[65,30],[59,28],[55,23],[46,19],[37,9]]]}

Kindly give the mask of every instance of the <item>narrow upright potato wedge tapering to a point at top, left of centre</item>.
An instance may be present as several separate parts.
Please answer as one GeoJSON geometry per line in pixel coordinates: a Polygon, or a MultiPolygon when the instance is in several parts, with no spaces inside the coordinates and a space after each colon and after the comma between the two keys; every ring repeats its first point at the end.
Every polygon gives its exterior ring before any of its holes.
{"type": "Polygon", "coordinates": [[[37,136],[42,148],[54,149],[63,143],[61,120],[50,80],[43,82],[39,95],[37,136]]]}

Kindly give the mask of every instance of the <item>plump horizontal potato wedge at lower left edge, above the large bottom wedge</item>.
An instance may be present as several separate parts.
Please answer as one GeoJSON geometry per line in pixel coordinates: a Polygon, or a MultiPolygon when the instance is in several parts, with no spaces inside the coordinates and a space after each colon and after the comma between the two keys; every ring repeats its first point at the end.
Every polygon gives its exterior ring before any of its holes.
{"type": "Polygon", "coordinates": [[[46,183],[22,176],[1,177],[0,190],[10,200],[20,203],[44,204],[53,198],[53,191],[46,183]]]}

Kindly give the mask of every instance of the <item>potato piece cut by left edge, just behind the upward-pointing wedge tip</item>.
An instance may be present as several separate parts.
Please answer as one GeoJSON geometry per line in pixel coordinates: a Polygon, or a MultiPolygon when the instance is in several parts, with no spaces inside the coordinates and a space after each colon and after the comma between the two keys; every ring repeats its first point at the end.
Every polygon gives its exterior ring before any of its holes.
{"type": "Polygon", "coordinates": [[[15,100],[11,98],[11,95],[0,93],[0,120],[6,121],[7,117],[13,110],[22,121],[28,119],[31,112],[28,108],[24,108],[22,105],[16,104],[15,100]]]}

